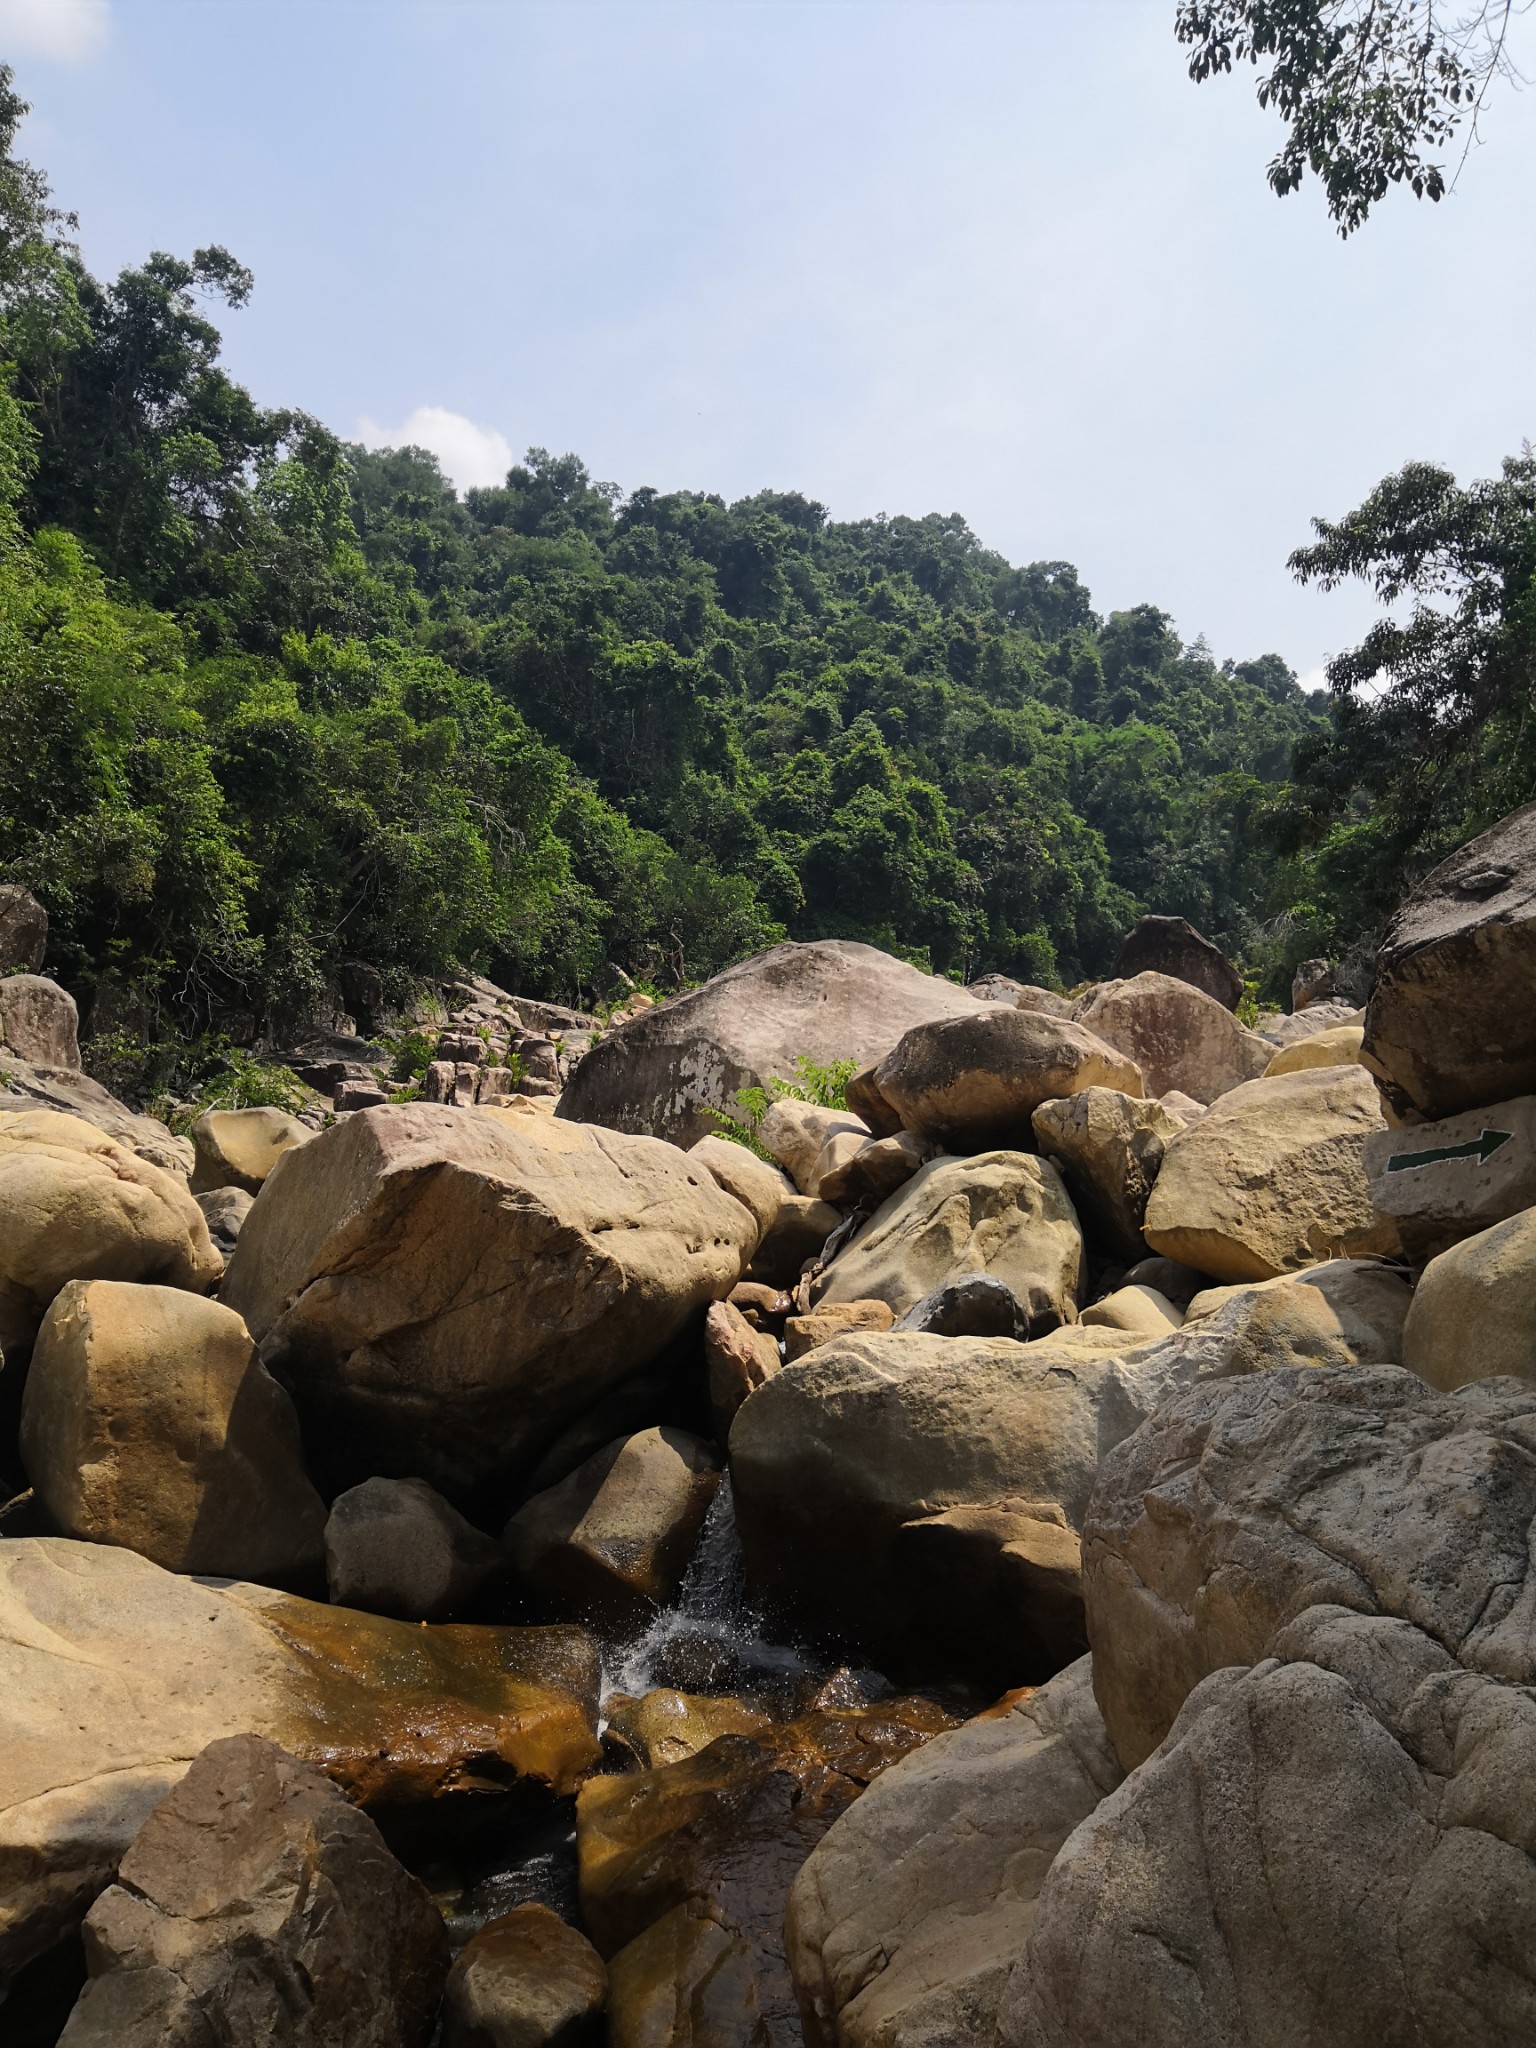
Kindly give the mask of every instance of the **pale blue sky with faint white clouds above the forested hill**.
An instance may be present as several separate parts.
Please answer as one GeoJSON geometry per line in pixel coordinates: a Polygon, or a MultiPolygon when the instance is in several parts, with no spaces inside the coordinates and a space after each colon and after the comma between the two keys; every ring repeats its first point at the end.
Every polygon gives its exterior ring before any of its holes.
{"type": "MultiPolygon", "coordinates": [[[[1309,682],[1374,616],[1288,553],[1536,438],[1536,90],[1348,242],[1264,182],[1171,0],[0,0],[98,272],[219,242],[225,360],[463,485],[961,512],[1309,682]]],[[[1520,25],[1536,72],[1536,14],[1520,25]]]]}

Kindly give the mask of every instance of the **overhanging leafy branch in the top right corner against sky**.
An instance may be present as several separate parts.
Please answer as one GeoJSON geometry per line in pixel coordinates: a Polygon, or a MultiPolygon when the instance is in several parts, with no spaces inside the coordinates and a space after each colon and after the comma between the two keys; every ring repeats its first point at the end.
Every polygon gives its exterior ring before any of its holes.
{"type": "Polygon", "coordinates": [[[1284,197],[1307,170],[1323,180],[1339,233],[1354,233],[1389,186],[1442,199],[1436,158],[1464,147],[1489,88],[1513,76],[1509,23],[1530,0],[1180,0],[1176,35],[1198,82],[1235,63],[1268,63],[1260,106],[1288,135],[1270,162],[1284,197]]]}

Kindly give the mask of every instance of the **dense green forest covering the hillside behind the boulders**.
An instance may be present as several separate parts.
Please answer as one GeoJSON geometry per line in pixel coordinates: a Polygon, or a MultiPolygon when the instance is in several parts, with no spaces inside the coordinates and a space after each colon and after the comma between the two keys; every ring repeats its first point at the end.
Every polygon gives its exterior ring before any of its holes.
{"type": "MultiPolygon", "coordinates": [[[[836,934],[1071,985],[1141,909],[1278,989],[1477,821],[1497,707],[1425,784],[1397,684],[1329,709],[958,516],[625,496],[543,451],[461,500],[418,449],[256,406],[209,317],[250,274],[94,279],[0,76],[0,879],[102,1047],[281,1040],[358,963],[584,997],[604,963],[668,987],[836,934]]],[[[1485,635],[1530,582],[1505,487],[1485,635]]],[[[1303,567],[1384,551],[1327,528],[1303,567]]]]}

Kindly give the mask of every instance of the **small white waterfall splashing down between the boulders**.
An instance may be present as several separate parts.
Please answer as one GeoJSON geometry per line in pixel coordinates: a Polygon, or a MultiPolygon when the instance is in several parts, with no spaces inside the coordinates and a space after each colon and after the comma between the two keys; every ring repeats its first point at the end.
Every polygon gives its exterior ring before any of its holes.
{"type": "Polygon", "coordinates": [[[604,1700],[655,1686],[680,1692],[786,1692],[817,1671],[811,1659],[770,1642],[748,1606],[731,1475],[721,1475],[678,1597],[604,1661],[604,1700]]]}

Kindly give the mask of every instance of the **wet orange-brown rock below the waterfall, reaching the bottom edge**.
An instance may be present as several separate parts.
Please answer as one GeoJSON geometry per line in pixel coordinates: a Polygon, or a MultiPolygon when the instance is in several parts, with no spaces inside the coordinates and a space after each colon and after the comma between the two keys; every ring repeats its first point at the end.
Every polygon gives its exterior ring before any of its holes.
{"type": "Polygon", "coordinates": [[[590,1780],[575,1839],[582,1915],[612,1958],[610,2038],[791,2048],[782,1927],[795,1872],[866,1784],[952,1724],[930,1700],[885,1700],[590,1780]]]}

